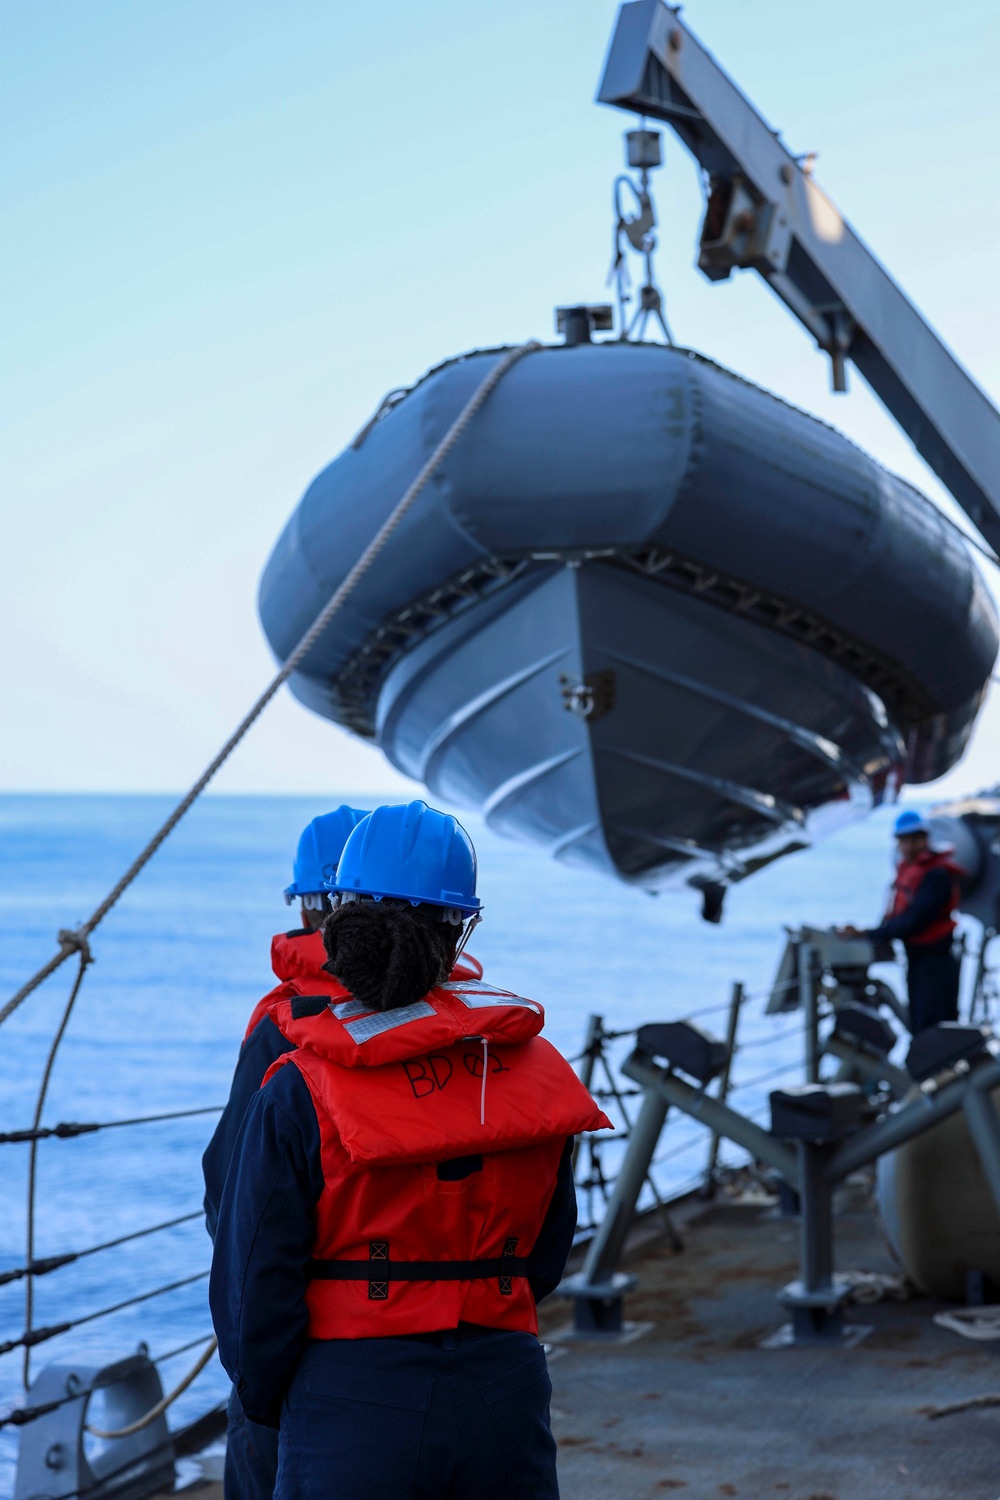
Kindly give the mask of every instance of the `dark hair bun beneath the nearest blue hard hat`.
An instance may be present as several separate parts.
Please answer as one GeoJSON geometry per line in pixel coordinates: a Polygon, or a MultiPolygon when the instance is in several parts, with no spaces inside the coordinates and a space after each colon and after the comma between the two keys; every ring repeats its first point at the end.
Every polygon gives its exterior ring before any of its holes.
{"type": "Polygon", "coordinates": [[[324,969],[373,1011],[393,1011],[448,978],[457,938],[433,906],[349,902],[322,924],[324,969]]]}

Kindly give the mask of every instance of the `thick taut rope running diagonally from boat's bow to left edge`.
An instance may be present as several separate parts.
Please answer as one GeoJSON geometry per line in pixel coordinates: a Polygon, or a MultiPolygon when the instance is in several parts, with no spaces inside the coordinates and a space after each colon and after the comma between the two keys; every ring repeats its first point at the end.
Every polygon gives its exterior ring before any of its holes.
{"type": "Polygon", "coordinates": [[[253,704],[246,718],[241,720],[241,723],[226,740],[226,742],[223,744],[222,750],[214,758],[214,760],[211,760],[210,765],[202,771],[202,774],[198,777],[198,780],[187,792],[187,795],[177,804],[177,807],[169,814],[166,822],[153,834],[147,846],[132,861],[132,864],[124,872],[118,884],[112,886],[108,896],[105,896],[103,902],[93,912],[93,915],[73,932],[63,930],[58,933],[58,945],[60,945],[58,952],[54,954],[54,957],[49,958],[48,963],[42,964],[37,974],[34,974],[27,981],[27,984],[21,986],[16,994],[10,996],[6,1005],[0,1010],[0,1026],[3,1024],[3,1022],[7,1020],[9,1016],[13,1014],[13,1011],[16,1011],[18,1005],[21,1005],[28,998],[28,994],[31,994],[31,992],[36,990],[39,984],[42,984],[49,976],[49,974],[54,974],[55,969],[58,969],[60,964],[63,964],[66,958],[69,958],[70,954],[78,951],[81,954],[87,954],[87,938],[90,936],[90,933],[94,930],[94,927],[97,927],[103,921],[103,918],[108,915],[115,902],[124,894],[124,891],[127,891],[127,888],[132,885],[139,872],[148,864],[148,861],[153,858],[160,844],[171,836],[171,832],[181,820],[184,813],[192,807],[193,802],[198,801],[198,798],[208,786],[208,782],[211,782],[216,771],[222,765],[225,765],[225,762],[229,759],[229,756],[240,744],[246,732],[256,723],[259,716],[264,712],[270,700],[277,693],[279,687],[292,675],[292,672],[300,664],[303,657],[306,657],[309,651],[313,648],[319,636],[324,633],[333,616],[343,604],[345,598],[357,588],[360,580],[369,572],[369,568],[378,558],[379,552],[384,549],[385,543],[397,530],[406,512],[412,507],[414,501],[424,489],[427,482],[433,477],[435,471],[447,459],[451,448],[456,446],[456,442],[459,441],[468,424],[472,422],[472,417],[475,417],[475,414],[484,405],[484,402],[489,400],[496,386],[499,386],[499,382],[502,381],[507,370],[511,369],[511,366],[514,366],[526,354],[534,354],[534,351],[540,348],[541,344],[532,339],[528,344],[520,344],[517,345],[517,348],[510,350],[504,356],[504,358],[496,362],[496,364],[489,372],[483,384],[474,392],[474,394],[462,408],[456,420],[451,423],[444,438],[433,450],[433,453],[430,454],[430,458],[427,459],[427,462],[424,464],[420,474],[412,482],[403,498],[399,501],[391,514],[387,516],[387,519],[382,522],[382,525],[375,532],[375,536],[372,537],[372,540],[369,542],[364,552],[357,560],[348,576],[337,586],[327,606],[319,612],[319,615],[316,615],[316,620],[312,622],[306,634],[301,638],[292,654],[286,658],[282,669],[274,675],[268,687],[261,693],[258,700],[253,704]]]}

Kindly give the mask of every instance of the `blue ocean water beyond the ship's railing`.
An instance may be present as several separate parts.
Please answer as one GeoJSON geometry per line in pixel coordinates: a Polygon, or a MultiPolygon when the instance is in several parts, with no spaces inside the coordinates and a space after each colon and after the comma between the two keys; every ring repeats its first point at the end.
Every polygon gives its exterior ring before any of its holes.
{"type": "MultiPolygon", "coordinates": [[[[225,1101],[255,1000],[270,988],[271,933],[294,926],[282,900],[301,826],[336,806],[298,796],[204,796],[93,939],[43,1122],[124,1120],[225,1101]]],[[[351,801],[357,802],[354,795],[351,801]]],[[[82,921],[172,806],[166,796],[0,796],[0,1004],[82,921]]],[[[364,802],[361,801],[361,806],[364,802]]],[[[564,868],[465,819],[480,852],[486,920],[472,951],[486,974],[546,1005],[546,1035],[574,1056],[586,1017],[631,1028],[711,1008],[720,1034],[732,982],[748,992],[733,1102],[762,1114],[775,1074],[796,1077],[795,1017],[765,1017],[784,927],[874,920],[891,876],[892,812],[778,861],[730,892],[709,927],[693,892],[649,897],[564,868]],[[783,1072],[784,1070],[784,1072],[783,1072]]],[[[0,1032],[0,1131],[30,1124],[45,1053],[72,982],[67,963],[0,1032]]],[[[895,966],[880,970],[900,987],[895,966]]],[[[36,1254],[78,1251],[201,1206],[199,1158],[214,1114],[124,1126],[39,1149],[36,1254]]],[[[706,1132],[670,1118],[658,1185],[703,1167],[706,1132]]],[[[0,1144],[0,1270],[24,1262],[27,1146],[0,1144]]],[[[586,1204],[585,1204],[586,1208],[586,1204]]],[[[208,1268],[204,1224],[133,1240],[36,1281],[34,1323],[52,1324],[208,1268]]],[[[24,1328],[22,1286],[0,1287],[0,1342],[24,1328]]],[[[36,1347],[48,1364],[106,1362],[145,1342],[153,1358],[208,1332],[205,1281],[88,1322],[36,1347]]],[[[162,1365],[171,1389],[196,1358],[162,1365]]],[[[0,1358],[0,1414],[24,1401],[21,1352],[0,1358]]],[[[226,1394],[217,1360],[171,1425],[226,1394]]],[[[12,1491],[16,1430],[0,1430],[0,1496],[12,1491]]]]}

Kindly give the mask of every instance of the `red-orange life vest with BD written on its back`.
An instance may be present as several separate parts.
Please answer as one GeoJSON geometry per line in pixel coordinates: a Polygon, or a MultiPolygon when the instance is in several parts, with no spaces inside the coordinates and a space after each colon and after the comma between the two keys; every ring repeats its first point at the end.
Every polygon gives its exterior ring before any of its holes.
{"type": "Polygon", "coordinates": [[[270,1016],[295,1050],[267,1077],[298,1068],[319,1122],[309,1336],[535,1334],[528,1256],[562,1148],[610,1128],[541,1006],[469,980],[394,1011],[319,996],[270,1016]]]}

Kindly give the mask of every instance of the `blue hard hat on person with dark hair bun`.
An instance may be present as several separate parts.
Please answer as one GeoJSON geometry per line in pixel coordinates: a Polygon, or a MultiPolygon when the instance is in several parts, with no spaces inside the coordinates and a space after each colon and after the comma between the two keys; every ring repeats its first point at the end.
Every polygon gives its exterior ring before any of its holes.
{"type": "Polygon", "coordinates": [[[394,896],[447,906],[465,916],[483,904],[475,894],[472,840],[457,818],[426,802],[376,807],[348,838],[328,890],[342,896],[394,896]]]}

